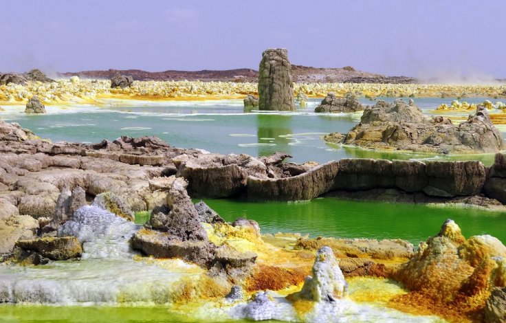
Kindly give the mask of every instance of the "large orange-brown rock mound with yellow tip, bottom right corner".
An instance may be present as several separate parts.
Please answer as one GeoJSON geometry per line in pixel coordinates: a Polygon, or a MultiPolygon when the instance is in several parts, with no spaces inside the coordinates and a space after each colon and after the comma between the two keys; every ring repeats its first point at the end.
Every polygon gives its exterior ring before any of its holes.
{"type": "MultiPolygon", "coordinates": [[[[462,314],[480,311],[494,287],[506,286],[506,247],[492,236],[465,239],[452,220],[439,234],[420,243],[415,256],[402,265],[395,278],[412,291],[395,302],[418,298],[442,304],[462,314]]],[[[419,302],[419,301],[415,301],[419,302]]]]}

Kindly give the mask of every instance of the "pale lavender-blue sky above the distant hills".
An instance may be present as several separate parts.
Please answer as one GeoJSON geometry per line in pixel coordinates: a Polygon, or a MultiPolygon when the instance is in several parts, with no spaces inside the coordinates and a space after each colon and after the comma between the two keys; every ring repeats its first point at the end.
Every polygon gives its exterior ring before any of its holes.
{"type": "Polygon", "coordinates": [[[419,78],[506,78],[506,1],[16,0],[0,71],[258,69],[292,64],[419,78]]]}

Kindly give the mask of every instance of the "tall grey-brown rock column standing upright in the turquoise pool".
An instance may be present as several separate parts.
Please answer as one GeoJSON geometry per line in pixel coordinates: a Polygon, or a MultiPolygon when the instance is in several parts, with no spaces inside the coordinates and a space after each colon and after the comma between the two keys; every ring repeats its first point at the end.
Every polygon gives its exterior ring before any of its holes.
{"type": "Polygon", "coordinates": [[[266,49],[259,67],[259,109],[296,111],[292,65],[283,48],[266,49]]]}

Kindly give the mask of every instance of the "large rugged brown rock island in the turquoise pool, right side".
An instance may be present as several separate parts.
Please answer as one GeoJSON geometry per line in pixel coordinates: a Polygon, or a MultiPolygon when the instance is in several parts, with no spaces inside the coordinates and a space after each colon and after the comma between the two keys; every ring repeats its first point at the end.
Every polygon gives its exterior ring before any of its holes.
{"type": "Polygon", "coordinates": [[[396,149],[422,153],[498,153],[506,148],[503,137],[492,124],[487,109],[458,125],[441,116],[430,118],[410,100],[382,100],[367,107],[360,123],[346,135],[327,135],[325,140],[364,148],[396,149]]]}

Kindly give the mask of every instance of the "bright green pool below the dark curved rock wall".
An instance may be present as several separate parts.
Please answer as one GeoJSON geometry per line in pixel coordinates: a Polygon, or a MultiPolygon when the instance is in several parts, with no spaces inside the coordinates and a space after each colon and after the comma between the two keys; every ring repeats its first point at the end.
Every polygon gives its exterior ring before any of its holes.
{"type": "Polygon", "coordinates": [[[298,203],[206,199],[226,221],[253,219],[262,233],[298,232],[339,238],[401,238],[415,246],[453,219],[464,236],[490,234],[506,243],[506,213],[461,206],[320,198],[298,203]]]}

